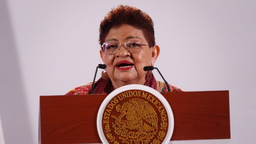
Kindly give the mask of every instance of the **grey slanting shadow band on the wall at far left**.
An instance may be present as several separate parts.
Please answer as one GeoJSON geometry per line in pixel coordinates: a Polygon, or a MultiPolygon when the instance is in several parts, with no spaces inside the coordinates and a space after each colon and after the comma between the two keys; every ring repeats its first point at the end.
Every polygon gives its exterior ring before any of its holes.
{"type": "Polygon", "coordinates": [[[7,1],[0,1],[0,111],[6,144],[33,143],[7,1]]]}

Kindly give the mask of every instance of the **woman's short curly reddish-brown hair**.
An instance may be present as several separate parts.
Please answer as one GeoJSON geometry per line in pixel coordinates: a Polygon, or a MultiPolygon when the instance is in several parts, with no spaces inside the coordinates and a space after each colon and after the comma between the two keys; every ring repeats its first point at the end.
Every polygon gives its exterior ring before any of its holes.
{"type": "Polygon", "coordinates": [[[145,12],[136,7],[119,5],[109,11],[101,21],[99,28],[99,43],[103,45],[109,30],[128,24],[143,31],[143,35],[150,46],[155,45],[155,31],[152,19],[145,12]]]}

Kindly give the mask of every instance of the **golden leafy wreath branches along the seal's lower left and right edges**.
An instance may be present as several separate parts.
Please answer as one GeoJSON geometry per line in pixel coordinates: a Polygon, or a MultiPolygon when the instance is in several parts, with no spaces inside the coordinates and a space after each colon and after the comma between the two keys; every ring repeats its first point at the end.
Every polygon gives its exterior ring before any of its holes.
{"type": "MultiPolygon", "coordinates": [[[[166,130],[167,122],[161,122],[160,126],[161,127],[158,132],[157,138],[155,138],[153,140],[153,142],[150,144],[159,144],[159,143],[161,143],[160,140],[163,140],[163,138],[165,137],[166,132],[164,130],[166,130]]],[[[111,129],[110,129],[109,124],[107,124],[104,129],[105,129],[106,136],[109,139],[109,142],[113,142],[114,144],[119,144],[119,142],[115,141],[115,137],[110,133],[111,129]]]]}

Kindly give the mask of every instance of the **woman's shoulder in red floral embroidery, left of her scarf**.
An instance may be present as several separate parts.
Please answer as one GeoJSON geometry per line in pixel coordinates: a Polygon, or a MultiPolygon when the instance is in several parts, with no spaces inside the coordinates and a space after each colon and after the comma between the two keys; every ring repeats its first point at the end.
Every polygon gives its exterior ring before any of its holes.
{"type": "Polygon", "coordinates": [[[67,92],[65,95],[84,95],[84,94],[90,94],[91,84],[92,84],[92,82],[87,83],[85,85],[78,86],[78,87],[70,90],[69,92],[67,92]]]}

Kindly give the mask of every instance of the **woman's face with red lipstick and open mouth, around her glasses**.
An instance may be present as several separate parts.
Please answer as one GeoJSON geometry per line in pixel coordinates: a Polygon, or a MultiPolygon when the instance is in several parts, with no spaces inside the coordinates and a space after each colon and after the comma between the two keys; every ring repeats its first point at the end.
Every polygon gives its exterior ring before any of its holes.
{"type": "MultiPolygon", "coordinates": [[[[105,42],[117,42],[121,44],[136,40],[148,43],[142,30],[131,25],[113,27],[109,30],[105,38],[105,42]]],[[[143,67],[154,66],[159,51],[160,49],[157,45],[151,48],[147,45],[143,45],[140,52],[129,53],[125,49],[125,46],[122,45],[119,51],[114,55],[105,54],[102,50],[100,54],[102,61],[107,65],[106,71],[114,88],[118,88],[128,84],[143,85],[147,73],[143,70],[143,67]]]]}

